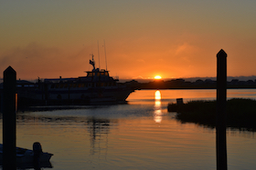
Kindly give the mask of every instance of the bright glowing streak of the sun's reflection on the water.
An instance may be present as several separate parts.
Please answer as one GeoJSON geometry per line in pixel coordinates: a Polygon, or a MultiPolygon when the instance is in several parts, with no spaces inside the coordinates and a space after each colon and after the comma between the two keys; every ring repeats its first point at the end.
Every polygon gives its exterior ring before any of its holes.
{"type": "Polygon", "coordinates": [[[155,123],[161,123],[162,121],[162,108],[161,108],[161,93],[159,90],[155,91],[155,111],[154,120],[155,123]]]}

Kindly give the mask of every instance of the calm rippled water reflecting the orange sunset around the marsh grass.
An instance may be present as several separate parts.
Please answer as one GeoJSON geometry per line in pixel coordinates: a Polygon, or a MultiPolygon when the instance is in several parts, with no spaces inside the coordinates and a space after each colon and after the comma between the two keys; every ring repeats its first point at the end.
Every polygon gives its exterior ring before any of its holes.
{"type": "MultiPolygon", "coordinates": [[[[167,112],[180,97],[214,100],[216,91],[141,90],[128,105],[18,113],[16,145],[40,142],[54,154],[54,170],[216,169],[215,129],[181,124],[167,112]]],[[[256,90],[228,90],[228,97],[256,99],[256,90]]],[[[228,130],[227,142],[229,169],[256,168],[254,133],[228,130]]]]}

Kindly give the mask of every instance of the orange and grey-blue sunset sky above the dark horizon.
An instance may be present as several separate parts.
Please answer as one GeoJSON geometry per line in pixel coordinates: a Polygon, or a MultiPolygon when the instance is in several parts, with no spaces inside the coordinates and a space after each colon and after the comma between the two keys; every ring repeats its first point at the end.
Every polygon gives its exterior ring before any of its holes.
{"type": "MultiPolygon", "coordinates": [[[[17,78],[76,77],[101,69],[126,78],[256,75],[255,0],[0,0],[0,71],[17,78]]],[[[1,75],[0,75],[1,76],[1,75]]]]}

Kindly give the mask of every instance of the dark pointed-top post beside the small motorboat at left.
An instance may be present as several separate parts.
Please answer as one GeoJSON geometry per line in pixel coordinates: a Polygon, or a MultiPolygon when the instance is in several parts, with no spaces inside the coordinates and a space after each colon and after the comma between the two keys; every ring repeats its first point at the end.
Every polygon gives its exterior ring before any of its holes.
{"type": "Polygon", "coordinates": [[[16,170],[16,71],[4,71],[3,170],[16,170]]]}

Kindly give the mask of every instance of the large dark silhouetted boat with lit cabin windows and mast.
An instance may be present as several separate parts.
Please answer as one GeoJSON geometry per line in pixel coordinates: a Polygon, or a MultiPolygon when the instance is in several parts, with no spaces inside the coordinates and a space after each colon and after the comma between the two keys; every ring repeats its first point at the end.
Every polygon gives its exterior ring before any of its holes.
{"type": "Polygon", "coordinates": [[[37,83],[17,81],[18,105],[94,105],[124,103],[133,88],[119,83],[105,69],[95,68],[86,76],[44,79],[37,83]]]}

